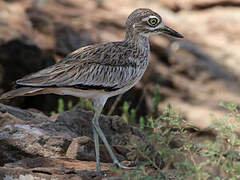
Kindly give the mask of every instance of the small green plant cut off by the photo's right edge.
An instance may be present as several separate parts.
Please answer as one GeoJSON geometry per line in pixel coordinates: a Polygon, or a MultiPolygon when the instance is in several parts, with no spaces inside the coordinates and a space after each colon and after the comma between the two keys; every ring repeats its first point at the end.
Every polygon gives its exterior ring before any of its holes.
{"type": "Polygon", "coordinates": [[[201,155],[208,158],[208,166],[217,169],[219,178],[240,179],[240,112],[235,103],[220,103],[228,110],[223,118],[215,118],[212,129],[216,132],[215,142],[202,145],[201,155]]]}

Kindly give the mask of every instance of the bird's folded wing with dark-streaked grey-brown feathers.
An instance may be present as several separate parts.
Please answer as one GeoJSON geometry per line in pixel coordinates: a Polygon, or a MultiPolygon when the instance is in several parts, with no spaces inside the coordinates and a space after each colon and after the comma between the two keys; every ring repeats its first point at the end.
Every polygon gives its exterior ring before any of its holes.
{"type": "Polygon", "coordinates": [[[62,61],[16,81],[31,87],[102,87],[121,88],[136,74],[136,64],[118,51],[111,56],[116,44],[92,45],[80,48],[62,61]]]}

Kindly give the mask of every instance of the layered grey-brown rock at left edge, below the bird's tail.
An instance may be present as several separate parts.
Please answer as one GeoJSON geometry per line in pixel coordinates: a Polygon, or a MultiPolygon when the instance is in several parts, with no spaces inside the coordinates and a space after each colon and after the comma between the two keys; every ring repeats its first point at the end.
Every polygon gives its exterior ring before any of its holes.
{"type": "Polygon", "coordinates": [[[0,144],[8,152],[0,153],[3,164],[20,160],[24,156],[64,156],[71,142],[67,134],[41,128],[49,124],[54,127],[54,122],[40,113],[1,105],[0,121],[0,144]]]}

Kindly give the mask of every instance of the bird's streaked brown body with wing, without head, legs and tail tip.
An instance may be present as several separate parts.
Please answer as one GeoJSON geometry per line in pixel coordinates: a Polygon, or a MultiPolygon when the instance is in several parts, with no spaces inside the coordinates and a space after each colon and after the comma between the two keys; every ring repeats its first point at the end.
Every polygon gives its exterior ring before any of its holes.
{"type": "Polygon", "coordinates": [[[87,46],[16,83],[31,87],[114,91],[131,86],[143,75],[148,56],[149,46],[138,47],[125,42],[87,46]]]}

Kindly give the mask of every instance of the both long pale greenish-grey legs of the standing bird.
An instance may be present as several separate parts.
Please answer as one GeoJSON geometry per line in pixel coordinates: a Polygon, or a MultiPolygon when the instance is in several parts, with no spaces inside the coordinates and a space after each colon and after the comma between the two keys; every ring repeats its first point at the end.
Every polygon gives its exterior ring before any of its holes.
{"type": "Polygon", "coordinates": [[[127,169],[128,167],[123,166],[122,164],[119,163],[119,161],[117,160],[117,157],[114,155],[103,131],[101,130],[100,126],[99,126],[99,117],[101,115],[102,109],[105,105],[107,98],[99,98],[99,99],[95,99],[94,101],[94,108],[95,108],[95,114],[94,114],[94,118],[92,120],[92,124],[94,127],[94,142],[95,142],[95,151],[96,151],[96,161],[97,161],[97,171],[101,171],[101,167],[100,167],[100,161],[99,161],[99,141],[98,141],[98,135],[100,136],[100,138],[102,139],[105,147],[107,148],[108,153],[110,154],[114,165],[118,166],[119,168],[124,168],[127,169]],[[95,135],[95,133],[97,132],[97,135],[95,135]]]}

